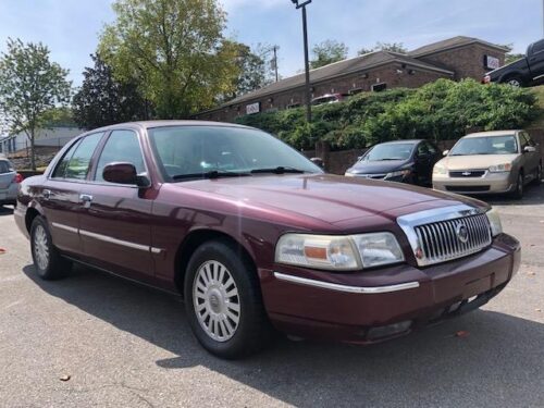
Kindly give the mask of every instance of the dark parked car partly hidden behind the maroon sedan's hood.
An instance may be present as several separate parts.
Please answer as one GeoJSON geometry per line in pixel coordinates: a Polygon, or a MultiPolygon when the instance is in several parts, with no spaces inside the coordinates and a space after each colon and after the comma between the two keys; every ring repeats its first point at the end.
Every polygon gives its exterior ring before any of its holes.
{"type": "Polygon", "coordinates": [[[434,163],[442,158],[429,140],[397,140],[375,145],[346,171],[346,176],[431,185],[434,163]]]}

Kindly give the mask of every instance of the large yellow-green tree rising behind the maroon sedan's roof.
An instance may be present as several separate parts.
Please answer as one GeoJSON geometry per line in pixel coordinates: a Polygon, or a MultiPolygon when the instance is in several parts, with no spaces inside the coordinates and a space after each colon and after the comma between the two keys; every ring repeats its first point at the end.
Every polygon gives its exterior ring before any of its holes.
{"type": "Polygon", "coordinates": [[[233,89],[236,48],[215,0],[116,0],[99,54],[120,81],[137,78],[161,119],[211,108],[233,89]]]}

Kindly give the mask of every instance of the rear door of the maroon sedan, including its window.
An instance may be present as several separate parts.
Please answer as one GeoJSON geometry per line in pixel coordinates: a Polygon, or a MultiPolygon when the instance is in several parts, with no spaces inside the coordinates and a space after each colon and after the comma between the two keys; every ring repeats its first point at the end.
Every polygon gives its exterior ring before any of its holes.
{"type": "Polygon", "coordinates": [[[62,251],[82,254],[79,191],[102,136],[103,133],[90,134],[67,149],[39,193],[53,243],[62,251]]]}

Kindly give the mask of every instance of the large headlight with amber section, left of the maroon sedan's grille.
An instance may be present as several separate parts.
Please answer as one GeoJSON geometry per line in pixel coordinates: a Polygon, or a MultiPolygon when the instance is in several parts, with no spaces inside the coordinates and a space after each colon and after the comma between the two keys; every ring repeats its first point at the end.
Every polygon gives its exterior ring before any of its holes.
{"type": "Polygon", "coordinates": [[[391,233],[350,236],[286,234],[275,249],[275,261],[313,269],[355,271],[404,261],[391,233]]]}

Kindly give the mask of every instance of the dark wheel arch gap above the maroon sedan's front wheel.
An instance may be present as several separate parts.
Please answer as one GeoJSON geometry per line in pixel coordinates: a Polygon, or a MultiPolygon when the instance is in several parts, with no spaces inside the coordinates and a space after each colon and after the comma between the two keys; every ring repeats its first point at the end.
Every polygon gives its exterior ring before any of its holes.
{"type": "Polygon", "coordinates": [[[248,249],[247,246],[243,245],[238,239],[222,231],[209,228],[195,230],[191,231],[180,244],[175,255],[174,283],[182,296],[184,294],[185,273],[190,257],[200,245],[210,240],[220,240],[236,247],[238,255],[249,261],[254,271],[257,271],[257,263],[251,250],[248,249]]]}

